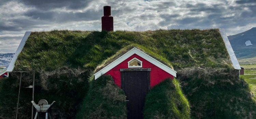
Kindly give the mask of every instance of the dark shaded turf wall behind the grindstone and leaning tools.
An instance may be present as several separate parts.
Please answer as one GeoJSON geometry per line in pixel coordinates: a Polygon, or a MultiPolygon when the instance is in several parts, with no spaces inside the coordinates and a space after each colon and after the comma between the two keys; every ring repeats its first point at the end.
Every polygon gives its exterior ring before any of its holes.
{"type": "MultiPolygon", "coordinates": [[[[41,99],[46,99],[48,103],[56,101],[51,112],[53,119],[74,118],[88,89],[88,73],[88,71],[67,67],[54,71],[36,72],[35,103],[38,103],[41,99]]],[[[20,73],[12,73],[10,78],[0,80],[1,119],[13,119],[16,116],[19,77],[20,73]]],[[[19,119],[31,118],[32,89],[25,87],[32,85],[32,79],[33,74],[31,72],[23,73],[19,98],[19,119]]],[[[40,118],[45,117],[40,115],[40,118]]]]}

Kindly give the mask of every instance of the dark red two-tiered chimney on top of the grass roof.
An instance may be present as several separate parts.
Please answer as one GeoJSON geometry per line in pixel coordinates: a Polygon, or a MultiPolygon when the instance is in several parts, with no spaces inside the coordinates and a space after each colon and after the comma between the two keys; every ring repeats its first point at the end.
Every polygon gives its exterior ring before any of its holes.
{"type": "Polygon", "coordinates": [[[111,16],[111,6],[103,7],[104,16],[101,17],[101,30],[114,31],[114,19],[111,16]]]}

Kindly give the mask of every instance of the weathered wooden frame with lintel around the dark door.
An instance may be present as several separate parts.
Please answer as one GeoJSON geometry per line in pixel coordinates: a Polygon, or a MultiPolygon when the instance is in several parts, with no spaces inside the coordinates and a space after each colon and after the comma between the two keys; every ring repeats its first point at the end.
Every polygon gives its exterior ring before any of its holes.
{"type": "Polygon", "coordinates": [[[127,71],[146,71],[147,72],[147,90],[150,90],[150,72],[151,68],[129,68],[129,69],[120,69],[121,72],[121,89],[124,88],[124,72],[127,71]]]}

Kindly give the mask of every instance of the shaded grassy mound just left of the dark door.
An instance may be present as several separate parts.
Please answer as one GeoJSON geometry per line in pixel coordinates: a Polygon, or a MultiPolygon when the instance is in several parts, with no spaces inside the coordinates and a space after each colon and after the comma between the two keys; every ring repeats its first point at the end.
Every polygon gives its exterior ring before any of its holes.
{"type": "Polygon", "coordinates": [[[111,76],[102,75],[91,82],[77,119],[126,119],[125,93],[111,76]]]}

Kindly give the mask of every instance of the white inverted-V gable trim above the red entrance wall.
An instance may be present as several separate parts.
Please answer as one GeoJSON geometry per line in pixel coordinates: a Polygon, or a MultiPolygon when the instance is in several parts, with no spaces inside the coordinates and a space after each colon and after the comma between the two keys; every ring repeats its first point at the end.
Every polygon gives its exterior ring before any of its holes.
{"type": "Polygon", "coordinates": [[[137,49],[137,48],[133,48],[130,51],[126,52],[124,55],[120,56],[119,58],[117,58],[114,62],[110,63],[109,65],[107,65],[106,67],[104,67],[103,69],[101,69],[100,71],[98,71],[97,73],[94,74],[95,76],[95,80],[98,79],[101,75],[105,74],[106,72],[108,72],[109,70],[113,69],[115,66],[117,66],[118,64],[122,63],[123,61],[125,61],[127,58],[129,58],[131,55],[133,54],[137,54],[139,56],[141,56],[142,58],[144,58],[145,60],[147,60],[148,62],[156,65],[157,67],[161,68],[162,70],[166,71],[167,73],[173,75],[174,77],[176,77],[176,71],[174,71],[173,69],[171,69],[170,67],[162,64],[161,62],[157,61],[156,59],[154,59],[153,57],[151,57],[150,55],[147,55],[146,53],[142,52],[141,50],[137,49]]]}

